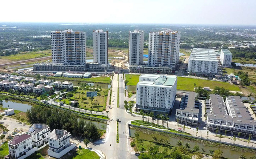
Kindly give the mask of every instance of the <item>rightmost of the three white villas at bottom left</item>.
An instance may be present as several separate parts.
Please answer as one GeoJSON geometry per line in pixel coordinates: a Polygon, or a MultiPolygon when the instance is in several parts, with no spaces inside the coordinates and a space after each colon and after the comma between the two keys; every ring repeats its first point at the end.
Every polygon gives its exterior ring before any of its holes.
{"type": "Polygon", "coordinates": [[[70,143],[70,137],[70,133],[66,130],[52,130],[52,133],[50,136],[48,136],[48,155],[55,158],[60,158],[72,150],[76,144],[70,143]]]}

